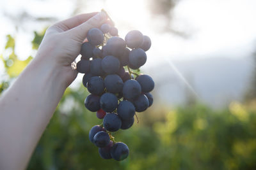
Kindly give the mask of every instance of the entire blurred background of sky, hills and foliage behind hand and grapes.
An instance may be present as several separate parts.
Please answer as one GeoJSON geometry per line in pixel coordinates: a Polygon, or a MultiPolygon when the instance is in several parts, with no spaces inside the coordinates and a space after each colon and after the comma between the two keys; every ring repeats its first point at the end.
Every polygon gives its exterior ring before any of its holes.
{"type": "MultiPolygon", "coordinates": [[[[256,1],[1,0],[0,94],[12,85],[59,20],[100,11],[119,34],[138,29],[152,47],[141,72],[154,104],[139,124],[115,132],[130,148],[103,160],[88,139],[83,75],[68,87],[28,169],[256,169],[256,1]]],[[[40,76],[40,75],[38,75],[40,76]]],[[[33,103],[31,103],[33,104],[33,103]]]]}

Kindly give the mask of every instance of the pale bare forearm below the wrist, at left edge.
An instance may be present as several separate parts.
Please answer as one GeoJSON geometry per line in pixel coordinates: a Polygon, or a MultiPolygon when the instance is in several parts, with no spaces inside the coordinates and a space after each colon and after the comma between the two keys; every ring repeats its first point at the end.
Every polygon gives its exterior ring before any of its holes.
{"type": "Polygon", "coordinates": [[[0,169],[26,167],[67,87],[63,67],[42,57],[34,59],[0,98],[0,169]]]}

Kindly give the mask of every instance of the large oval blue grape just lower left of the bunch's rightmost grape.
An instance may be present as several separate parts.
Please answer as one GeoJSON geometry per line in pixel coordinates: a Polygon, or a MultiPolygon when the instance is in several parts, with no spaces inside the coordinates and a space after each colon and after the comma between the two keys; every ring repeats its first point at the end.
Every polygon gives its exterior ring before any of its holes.
{"type": "Polygon", "coordinates": [[[124,83],[123,87],[123,95],[124,98],[132,101],[139,97],[141,94],[141,86],[140,83],[136,80],[127,80],[124,83]]]}

